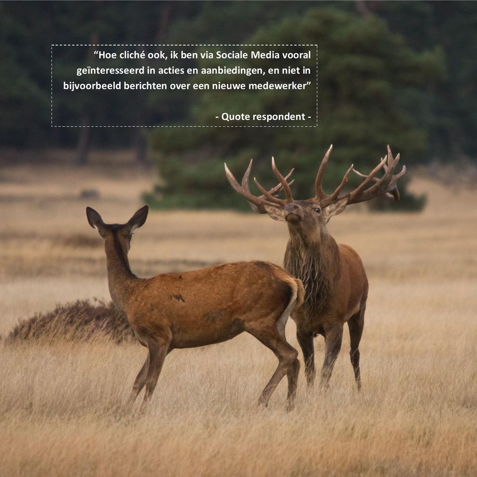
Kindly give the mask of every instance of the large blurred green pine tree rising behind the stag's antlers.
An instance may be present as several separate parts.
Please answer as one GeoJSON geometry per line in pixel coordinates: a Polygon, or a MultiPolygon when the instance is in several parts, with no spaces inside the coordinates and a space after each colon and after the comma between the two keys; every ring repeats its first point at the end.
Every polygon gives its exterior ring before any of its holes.
{"type": "MultiPolygon", "coordinates": [[[[295,197],[308,198],[319,160],[330,143],[336,147],[325,175],[329,190],[351,163],[369,171],[385,155],[387,144],[395,154],[401,152],[408,167],[425,154],[427,133],[415,124],[406,106],[442,77],[439,50],[415,52],[376,16],[361,18],[336,8],[312,8],[262,28],[244,42],[318,44],[318,127],[198,128],[186,135],[181,129],[159,131],[152,144],[159,152],[165,186],[156,190],[159,195],[148,197],[152,204],[160,204],[162,196],[165,207],[241,208],[243,201],[225,178],[224,160],[240,176],[253,157],[254,175],[272,186],[276,183],[270,168],[273,155],[282,172],[296,168],[293,192],[295,197]]],[[[281,91],[254,91],[250,101],[257,111],[278,102],[282,110],[301,111],[307,102],[315,103],[315,94],[315,89],[310,90],[297,104],[281,91]]],[[[192,116],[199,123],[207,122],[218,112],[238,111],[237,101],[230,91],[227,96],[206,91],[193,105],[192,116]]]]}

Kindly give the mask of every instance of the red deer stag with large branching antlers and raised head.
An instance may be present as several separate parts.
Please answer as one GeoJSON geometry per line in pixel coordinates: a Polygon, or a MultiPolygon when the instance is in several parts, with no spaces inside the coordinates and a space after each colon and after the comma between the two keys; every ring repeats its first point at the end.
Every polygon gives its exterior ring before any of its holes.
{"type": "Polygon", "coordinates": [[[294,200],[290,189],[291,182],[287,182],[290,174],[283,177],[273,158],[272,169],[280,184],[267,191],[254,178],[263,194],[261,196],[252,195],[248,186],[252,161],[245,171],[241,185],[227,164],[225,170],[232,187],[247,199],[255,212],[266,213],[272,219],[286,221],[288,225],[290,238],[284,265],[286,270],[300,278],[305,286],[305,302],[299,310],[294,311],[292,319],[297,323],[297,339],[303,351],[308,385],[311,386],[315,379],[313,338],[318,334],[324,336],[325,358],[321,369],[321,384],[328,386],[334,362],[341,348],[343,324],[347,321],[351,338],[351,364],[359,390],[361,375],[358,346],[363,333],[368,280],[358,254],[348,245],[337,245],[326,230],[326,224],[331,217],[343,212],[347,205],[364,202],[381,194],[398,200],[397,179],[406,169],[403,166],[401,172],[393,175],[399,155],[393,159],[388,146],[387,157],[382,159],[368,175],[359,173],[351,165],[341,184],[331,195],[326,195],[321,187],[321,180],[331,149],[332,146],[319,166],[315,181],[316,196],[312,199],[294,200]],[[375,175],[381,169],[385,172],[378,179],[375,175]],[[364,180],[352,192],[340,195],[351,171],[364,180]],[[282,188],[286,199],[275,196],[282,188]]]}

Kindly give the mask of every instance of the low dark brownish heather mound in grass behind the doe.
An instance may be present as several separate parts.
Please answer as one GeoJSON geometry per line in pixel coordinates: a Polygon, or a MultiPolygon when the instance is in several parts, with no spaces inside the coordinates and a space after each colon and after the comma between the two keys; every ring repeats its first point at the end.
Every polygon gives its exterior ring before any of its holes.
{"type": "Polygon", "coordinates": [[[136,339],[129,321],[112,303],[91,304],[89,300],[58,305],[52,312],[20,319],[8,334],[10,341],[84,341],[101,337],[117,343],[136,339]]]}

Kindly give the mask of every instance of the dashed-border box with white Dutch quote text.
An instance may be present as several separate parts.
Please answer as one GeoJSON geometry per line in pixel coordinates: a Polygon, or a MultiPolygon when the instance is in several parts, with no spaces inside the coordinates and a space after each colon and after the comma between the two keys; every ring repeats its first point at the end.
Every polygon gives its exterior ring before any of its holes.
{"type": "Polygon", "coordinates": [[[51,53],[53,127],[317,125],[316,45],[52,45],[51,53]],[[117,102],[137,114],[112,117],[117,102]]]}

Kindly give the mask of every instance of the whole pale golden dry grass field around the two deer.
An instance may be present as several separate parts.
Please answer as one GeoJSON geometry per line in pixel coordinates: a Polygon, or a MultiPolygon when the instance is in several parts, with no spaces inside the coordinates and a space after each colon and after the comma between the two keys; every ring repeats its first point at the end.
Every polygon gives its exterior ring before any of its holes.
{"type": "MultiPolygon", "coordinates": [[[[84,209],[124,222],[153,180],[123,167],[0,169],[3,336],[56,303],[109,300],[102,241],[84,209]],[[100,196],[81,199],[83,189],[100,196]]],[[[476,476],[477,191],[411,186],[428,195],[421,214],[350,207],[330,223],[370,281],[360,394],[347,330],[330,389],[307,391],[302,366],[290,413],[286,380],[267,409],[256,407],[276,359],[245,334],[174,350],[142,416],[122,409],[146,356],[139,344],[3,339],[0,475],[476,476]]],[[[152,211],[131,267],[151,276],[223,261],[281,264],[287,237],[263,216],[152,211]]],[[[290,320],[298,348],[294,331],[290,320]]],[[[320,365],[321,337],[315,346],[320,365]]]]}

